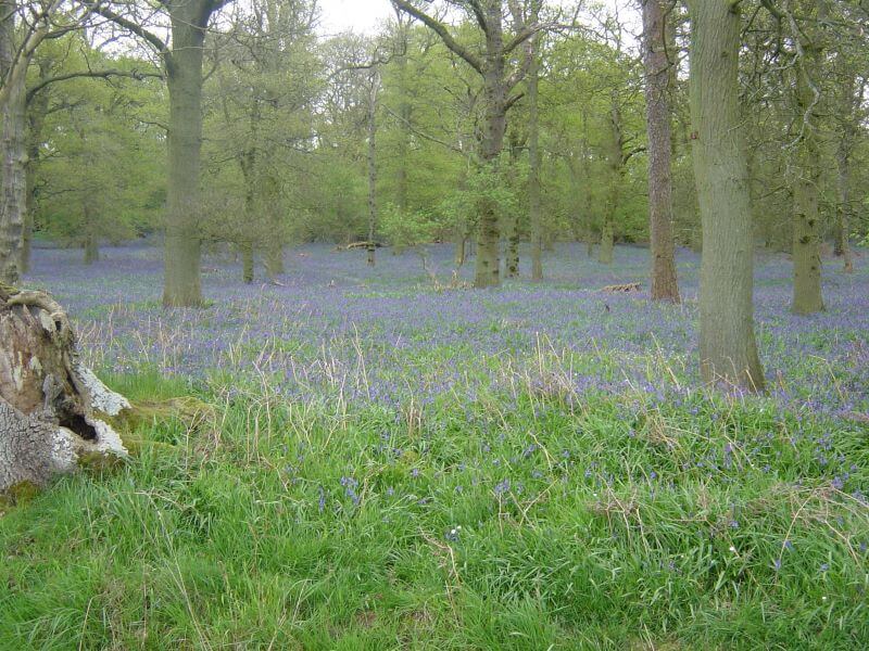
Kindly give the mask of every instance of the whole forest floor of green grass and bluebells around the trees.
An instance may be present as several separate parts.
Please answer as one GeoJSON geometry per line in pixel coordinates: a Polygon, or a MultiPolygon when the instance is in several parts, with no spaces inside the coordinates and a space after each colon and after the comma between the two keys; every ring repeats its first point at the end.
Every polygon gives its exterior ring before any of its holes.
{"type": "MultiPolygon", "coordinates": [[[[38,251],[86,359],[146,424],[122,469],[0,518],[0,649],[681,649],[869,646],[869,264],[828,309],[757,267],[763,398],[697,390],[685,303],[579,246],[547,281],[446,289],[451,251],[308,246],[286,286],[211,256],[164,312],[161,252],[38,251]]],[[[467,275],[468,269],[465,270],[467,275]]]]}

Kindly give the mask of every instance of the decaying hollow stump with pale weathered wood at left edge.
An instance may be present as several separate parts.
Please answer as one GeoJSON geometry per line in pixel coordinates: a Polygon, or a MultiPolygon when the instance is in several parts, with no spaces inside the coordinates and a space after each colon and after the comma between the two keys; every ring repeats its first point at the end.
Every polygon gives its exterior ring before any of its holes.
{"type": "Polygon", "coordinates": [[[51,296],[0,283],[0,492],[42,485],[84,458],[125,457],[106,420],[129,408],[80,363],[51,296]]]}

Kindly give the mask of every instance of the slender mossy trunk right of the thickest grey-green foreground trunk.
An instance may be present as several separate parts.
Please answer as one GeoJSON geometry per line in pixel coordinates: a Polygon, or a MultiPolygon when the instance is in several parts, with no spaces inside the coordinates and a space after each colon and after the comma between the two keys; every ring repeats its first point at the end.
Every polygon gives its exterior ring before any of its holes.
{"type": "Polygon", "coordinates": [[[818,99],[813,86],[820,71],[821,49],[804,42],[804,55],[797,64],[796,120],[802,135],[797,143],[794,170],[793,260],[794,297],[792,309],[810,315],[823,309],[821,296],[821,238],[818,212],[818,187],[821,180],[818,146],[818,99]]]}

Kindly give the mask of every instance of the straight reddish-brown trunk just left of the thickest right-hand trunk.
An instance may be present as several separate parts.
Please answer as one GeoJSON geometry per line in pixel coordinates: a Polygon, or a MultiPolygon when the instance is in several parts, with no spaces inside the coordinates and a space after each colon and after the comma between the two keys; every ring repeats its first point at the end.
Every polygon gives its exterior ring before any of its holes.
{"type": "Polygon", "coordinates": [[[648,132],[648,232],[652,299],[679,303],[672,240],[670,178],[670,66],[665,49],[664,0],[643,3],[646,130],[648,132]]]}

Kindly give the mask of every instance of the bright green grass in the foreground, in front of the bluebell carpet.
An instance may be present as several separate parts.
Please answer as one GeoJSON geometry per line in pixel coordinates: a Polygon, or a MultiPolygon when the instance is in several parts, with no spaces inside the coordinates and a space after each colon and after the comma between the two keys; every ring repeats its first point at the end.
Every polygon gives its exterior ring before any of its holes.
{"type": "Polygon", "coordinates": [[[0,649],[869,647],[865,425],[700,395],[200,397],[214,426],[149,424],[174,447],[0,518],[0,649]]]}

